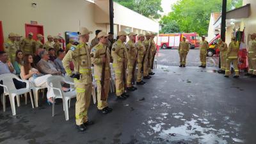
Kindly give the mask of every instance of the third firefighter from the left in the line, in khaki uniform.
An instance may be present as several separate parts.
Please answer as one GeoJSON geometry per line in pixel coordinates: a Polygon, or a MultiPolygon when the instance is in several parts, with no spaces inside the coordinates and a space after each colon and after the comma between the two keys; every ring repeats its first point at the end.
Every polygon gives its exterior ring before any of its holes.
{"type": "Polygon", "coordinates": [[[125,31],[119,31],[118,40],[112,45],[111,56],[113,57],[113,68],[115,70],[115,86],[116,86],[116,97],[117,99],[126,99],[129,97],[125,93],[124,88],[124,77],[126,76],[125,71],[127,68],[127,52],[125,48],[125,40],[127,33],[125,31]]]}

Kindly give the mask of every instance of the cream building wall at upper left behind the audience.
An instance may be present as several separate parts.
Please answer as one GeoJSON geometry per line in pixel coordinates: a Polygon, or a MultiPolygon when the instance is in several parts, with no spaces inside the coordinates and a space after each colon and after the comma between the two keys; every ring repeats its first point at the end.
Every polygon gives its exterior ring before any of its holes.
{"type": "MultiPolygon", "coordinates": [[[[1,0],[0,20],[3,21],[4,36],[8,33],[25,35],[25,24],[35,20],[44,26],[47,35],[64,36],[65,31],[79,31],[86,27],[91,31],[102,29],[106,31],[106,24],[96,24],[93,18],[94,4],[84,0],[1,0]],[[31,6],[36,3],[36,8],[31,6]]],[[[94,34],[90,36],[91,39],[94,34]]]]}

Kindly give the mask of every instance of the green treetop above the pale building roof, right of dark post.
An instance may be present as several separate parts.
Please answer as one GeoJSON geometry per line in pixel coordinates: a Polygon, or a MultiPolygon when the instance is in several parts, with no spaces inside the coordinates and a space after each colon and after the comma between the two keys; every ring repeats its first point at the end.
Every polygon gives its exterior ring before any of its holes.
{"type": "Polygon", "coordinates": [[[159,12],[163,12],[161,7],[161,0],[114,0],[116,3],[138,12],[145,17],[152,19],[159,19],[161,15],[159,12]]]}

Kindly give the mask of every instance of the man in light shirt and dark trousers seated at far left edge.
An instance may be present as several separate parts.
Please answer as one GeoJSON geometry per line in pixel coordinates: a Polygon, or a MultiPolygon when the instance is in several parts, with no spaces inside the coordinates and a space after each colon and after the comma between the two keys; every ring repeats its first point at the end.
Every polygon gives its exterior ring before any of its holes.
{"type": "MultiPolygon", "coordinates": [[[[1,74],[16,74],[15,69],[12,66],[11,61],[8,61],[8,55],[4,51],[0,51],[0,75],[1,74]]],[[[26,88],[26,83],[13,79],[15,88],[26,88]]],[[[3,84],[3,81],[0,81],[0,84],[3,84]]],[[[0,86],[0,95],[4,92],[3,87],[0,86]]]]}

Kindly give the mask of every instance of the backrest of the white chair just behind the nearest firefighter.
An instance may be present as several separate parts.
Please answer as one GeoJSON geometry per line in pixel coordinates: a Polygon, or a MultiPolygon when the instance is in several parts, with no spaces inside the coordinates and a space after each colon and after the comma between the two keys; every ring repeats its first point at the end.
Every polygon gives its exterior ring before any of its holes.
{"type": "Polygon", "coordinates": [[[48,86],[51,86],[52,88],[60,88],[61,90],[61,93],[58,90],[53,90],[53,93],[55,96],[63,94],[63,90],[61,86],[61,82],[63,81],[64,81],[64,77],[62,76],[51,76],[47,78],[48,86]]]}

